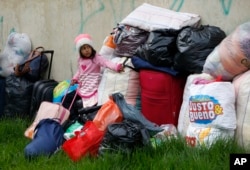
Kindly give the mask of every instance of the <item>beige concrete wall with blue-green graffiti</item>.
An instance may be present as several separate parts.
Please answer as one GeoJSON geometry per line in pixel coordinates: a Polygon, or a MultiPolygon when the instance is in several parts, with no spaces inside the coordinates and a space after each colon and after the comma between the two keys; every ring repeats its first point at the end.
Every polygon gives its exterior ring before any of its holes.
{"type": "Polygon", "coordinates": [[[77,65],[75,36],[91,34],[99,51],[112,28],[144,2],[199,14],[202,24],[227,34],[250,21],[249,0],[0,0],[0,49],[10,32],[27,33],[33,47],[55,51],[51,78],[70,79],[77,65]]]}

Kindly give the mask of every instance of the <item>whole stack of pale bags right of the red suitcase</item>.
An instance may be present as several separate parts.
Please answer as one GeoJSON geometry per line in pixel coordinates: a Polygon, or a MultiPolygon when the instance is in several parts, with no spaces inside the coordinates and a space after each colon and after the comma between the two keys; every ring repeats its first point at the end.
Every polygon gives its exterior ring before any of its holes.
{"type": "Polygon", "coordinates": [[[178,131],[193,146],[235,137],[249,148],[249,28],[239,25],[209,54],[203,73],[188,77],[178,131]]]}

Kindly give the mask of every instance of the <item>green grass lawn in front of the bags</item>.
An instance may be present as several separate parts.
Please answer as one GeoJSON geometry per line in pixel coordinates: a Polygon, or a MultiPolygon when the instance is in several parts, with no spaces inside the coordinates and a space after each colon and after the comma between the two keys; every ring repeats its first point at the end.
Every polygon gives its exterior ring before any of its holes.
{"type": "Polygon", "coordinates": [[[109,153],[72,162],[59,150],[50,158],[28,161],[24,148],[30,142],[23,133],[30,125],[25,119],[0,119],[0,170],[229,170],[230,153],[247,153],[234,141],[218,141],[210,149],[192,148],[181,138],[157,148],[138,148],[133,153],[109,153]]]}

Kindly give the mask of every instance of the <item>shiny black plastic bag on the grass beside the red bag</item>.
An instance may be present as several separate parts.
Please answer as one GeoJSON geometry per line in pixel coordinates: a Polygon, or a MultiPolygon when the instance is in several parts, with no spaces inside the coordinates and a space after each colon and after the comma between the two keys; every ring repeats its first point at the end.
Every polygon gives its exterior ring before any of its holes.
{"type": "Polygon", "coordinates": [[[130,152],[135,148],[150,144],[148,130],[140,122],[124,119],[110,124],[99,147],[99,154],[105,151],[130,152]]]}

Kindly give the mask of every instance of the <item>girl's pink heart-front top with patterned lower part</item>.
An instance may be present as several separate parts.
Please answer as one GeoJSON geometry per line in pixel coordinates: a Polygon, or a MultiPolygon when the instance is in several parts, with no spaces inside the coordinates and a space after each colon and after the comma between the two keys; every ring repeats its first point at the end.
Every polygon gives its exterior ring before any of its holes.
{"type": "Polygon", "coordinates": [[[97,93],[101,79],[101,67],[118,71],[121,64],[113,63],[99,54],[96,54],[94,59],[78,58],[78,69],[73,76],[73,80],[79,83],[77,90],[79,96],[89,98],[97,93]]]}

